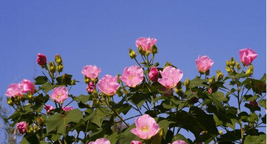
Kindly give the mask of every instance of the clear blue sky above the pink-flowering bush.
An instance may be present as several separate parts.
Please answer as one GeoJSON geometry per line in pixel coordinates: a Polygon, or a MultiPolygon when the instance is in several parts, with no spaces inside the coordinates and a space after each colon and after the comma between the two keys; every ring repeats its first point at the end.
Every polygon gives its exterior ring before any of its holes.
{"type": "MultiPolygon", "coordinates": [[[[37,53],[53,60],[61,54],[64,72],[83,81],[85,65],[105,74],[122,73],[135,62],[128,48],[138,37],[158,40],[155,61],[171,61],[184,72],[183,81],[197,74],[195,59],[208,55],[216,69],[239,59],[238,50],[251,47],[255,77],[266,70],[265,1],[1,1],[0,94],[22,78],[41,74],[37,53]]],[[[86,94],[78,84],[72,94],[86,94]]]]}

